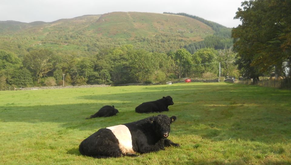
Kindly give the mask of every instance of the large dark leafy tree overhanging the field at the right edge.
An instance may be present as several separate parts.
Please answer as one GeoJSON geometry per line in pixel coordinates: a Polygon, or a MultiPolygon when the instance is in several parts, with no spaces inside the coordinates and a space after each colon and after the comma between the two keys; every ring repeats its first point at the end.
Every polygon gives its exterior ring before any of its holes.
{"type": "Polygon", "coordinates": [[[291,60],[291,1],[244,1],[234,18],[242,21],[232,30],[239,69],[257,78],[276,67],[278,74],[290,78],[283,70],[291,60]]]}

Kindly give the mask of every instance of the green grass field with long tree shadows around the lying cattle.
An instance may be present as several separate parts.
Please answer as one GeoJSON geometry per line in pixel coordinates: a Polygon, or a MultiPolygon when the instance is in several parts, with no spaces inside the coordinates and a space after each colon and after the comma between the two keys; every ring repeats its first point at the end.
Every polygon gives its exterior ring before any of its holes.
{"type": "Polygon", "coordinates": [[[0,164],[291,164],[291,91],[226,83],[0,91],[0,164]],[[142,102],[170,95],[180,148],[95,159],[80,142],[100,128],[144,119],[142,102]],[[117,116],[85,120],[104,105],[117,116]]]}

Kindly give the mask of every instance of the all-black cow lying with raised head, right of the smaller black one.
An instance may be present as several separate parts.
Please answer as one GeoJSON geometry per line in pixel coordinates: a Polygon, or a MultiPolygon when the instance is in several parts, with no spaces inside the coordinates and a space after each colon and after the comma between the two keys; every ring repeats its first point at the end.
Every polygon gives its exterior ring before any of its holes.
{"type": "Polygon", "coordinates": [[[163,97],[156,101],[150,101],[140,104],[135,108],[137,113],[151,113],[151,112],[162,112],[169,111],[168,106],[173,105],[173,99],[171,96],[163,97]]]}

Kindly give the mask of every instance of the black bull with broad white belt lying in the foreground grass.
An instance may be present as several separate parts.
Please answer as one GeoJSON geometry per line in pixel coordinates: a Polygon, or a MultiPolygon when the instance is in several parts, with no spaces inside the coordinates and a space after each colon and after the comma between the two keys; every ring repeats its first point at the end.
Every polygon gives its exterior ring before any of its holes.
{"type": "Polygon", "coordinates": [[[164,147],[180,145],[168,138],[170,124],[176,116],[158,115],[136,122],[99,129],[83,140],[79,146],[82,155],[105,158],[138,156],[135,153],[149,153],[164,150],[164,147]]]}

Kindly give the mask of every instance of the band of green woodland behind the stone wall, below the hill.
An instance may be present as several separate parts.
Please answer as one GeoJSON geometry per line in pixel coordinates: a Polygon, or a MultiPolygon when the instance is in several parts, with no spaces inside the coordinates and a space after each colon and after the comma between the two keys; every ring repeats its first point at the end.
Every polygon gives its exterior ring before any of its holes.
{"type": "MultiPolygon", "coordinates": [[[[235,54],[233,53],[233,56],[235,54]]],[[[203,48],[194,54],[185,48],[168,53],[149,52],[124,45],[103,49],[94,57],[60,56],[49,49],[31,50],[22,59],[0,51],[1,87],[84,84],[159,83],[184,77],[218,77],[219,51],[203,48]],[[204,64],[204,65],[201,65],[204,64]]],[[[238,74],[235,65],[224,74],[238,74]]]]}

